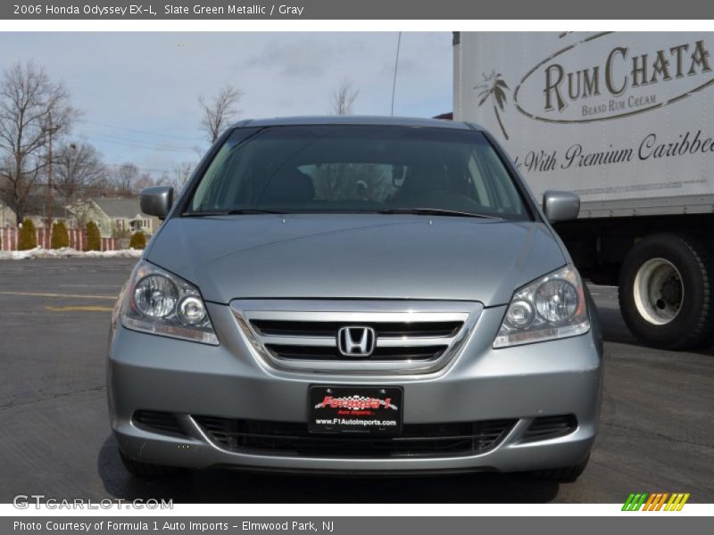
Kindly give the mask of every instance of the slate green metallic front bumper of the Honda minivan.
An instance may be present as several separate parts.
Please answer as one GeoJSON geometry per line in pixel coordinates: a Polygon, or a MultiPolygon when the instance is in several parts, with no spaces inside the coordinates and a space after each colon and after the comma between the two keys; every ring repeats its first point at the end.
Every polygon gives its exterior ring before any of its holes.
{"type": "Polygon", "coordinates": [[[253,353],[228,306],[209,303],[208,308],[219,334],[218,347],[114,325],[109,407],[112,430],[126,456],[160,465],[281,472],[513,472],[576,465],[593,445],[602,391],[596,317],[591,332],[581,336],[494,350],[505,308],[485,309],[461,353],[438,372],[360,377],[273,369],[253,353]],[[517,422],[493,448],[477,455],[361,458],[223,449],[192,417],[307,422],[311,384],[402,386],[404,424],[517,422]],[[185,434],[137,426],[132,421],[137,410],[174,414],[185,434]],[[577,428],[557,438],[523,440],[534,418],[556,415],[576,416],[577,428]]]}

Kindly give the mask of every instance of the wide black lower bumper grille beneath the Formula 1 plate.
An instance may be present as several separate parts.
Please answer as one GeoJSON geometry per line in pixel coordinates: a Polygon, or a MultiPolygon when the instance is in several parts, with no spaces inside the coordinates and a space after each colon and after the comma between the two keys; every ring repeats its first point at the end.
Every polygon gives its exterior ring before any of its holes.
{"type": "Polygon", "coordinates": [[[497,446],[516,420],[404,424],[399,437],[311,434],[307,424],[193,416],[221,449],[291,457],[463,457],[497,446]]]}

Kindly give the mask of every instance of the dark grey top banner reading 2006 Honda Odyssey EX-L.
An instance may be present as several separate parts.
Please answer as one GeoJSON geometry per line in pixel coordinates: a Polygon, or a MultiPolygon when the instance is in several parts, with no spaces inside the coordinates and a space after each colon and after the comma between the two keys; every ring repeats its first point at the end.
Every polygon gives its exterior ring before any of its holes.
{"type": "Polygon", "coordinates": [[[230,0],[16,1],[0,4],[4,20],[707,20],[714,2],[702,0],[298,0],[284,4],[230,0]]]}

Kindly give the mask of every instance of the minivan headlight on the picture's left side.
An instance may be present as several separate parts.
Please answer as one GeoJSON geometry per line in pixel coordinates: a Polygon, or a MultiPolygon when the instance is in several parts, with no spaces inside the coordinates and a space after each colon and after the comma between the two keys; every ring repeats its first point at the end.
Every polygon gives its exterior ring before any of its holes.
{"type": "Polygon", "coordinates": [[[129,281],[121,325],[142,333],[218,345],[198,288],[144,260],[129,281]]]}

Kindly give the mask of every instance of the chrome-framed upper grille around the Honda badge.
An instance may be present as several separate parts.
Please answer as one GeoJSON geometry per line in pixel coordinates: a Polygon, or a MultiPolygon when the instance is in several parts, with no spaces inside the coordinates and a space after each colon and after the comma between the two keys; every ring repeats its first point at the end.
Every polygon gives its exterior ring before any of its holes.
{"type": "Polygon", "coordinates": [[[270,364],[311,372],[426,373],[444,366],[476,324],[471,301],[237,300],[243,333],[270,364]],[[374,332],[368,354],[345,355],[338,332],[374,332]]]}

